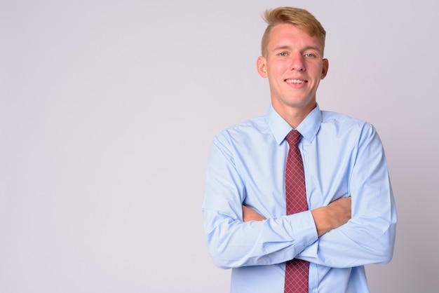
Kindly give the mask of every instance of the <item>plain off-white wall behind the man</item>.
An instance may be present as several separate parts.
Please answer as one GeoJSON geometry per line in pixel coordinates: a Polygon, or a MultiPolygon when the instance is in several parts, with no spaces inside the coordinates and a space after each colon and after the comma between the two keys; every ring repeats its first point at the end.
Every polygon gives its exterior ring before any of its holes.
{"type": "Polygon", "coordinates": [[[0,292],[228,292],[205,163],[217,132],[268,109],[255,62],[276,6],[327,30],[320,107],[384,142],[399,222],[372,292],[438,292],[431,0],[1,0],[0,292]]]}

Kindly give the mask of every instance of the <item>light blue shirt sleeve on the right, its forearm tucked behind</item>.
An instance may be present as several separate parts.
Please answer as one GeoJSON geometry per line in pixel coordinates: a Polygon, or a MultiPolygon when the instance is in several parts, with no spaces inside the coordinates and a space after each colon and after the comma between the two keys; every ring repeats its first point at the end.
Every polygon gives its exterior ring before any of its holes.
{"type": "Polygon", "coordinates": [[[352,218],[321,236],[297,258],[335,268],[386,264],[393,256],[396,205],[381,140],[366,124],[353,151],[352,218]]]}

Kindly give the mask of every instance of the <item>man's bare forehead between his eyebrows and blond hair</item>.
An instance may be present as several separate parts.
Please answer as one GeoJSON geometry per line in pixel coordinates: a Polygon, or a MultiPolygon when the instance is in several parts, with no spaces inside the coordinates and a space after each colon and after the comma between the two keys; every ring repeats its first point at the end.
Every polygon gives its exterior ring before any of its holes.
{"type": "Polygon", "coordinates": [[[279,46],[316,47],[320,48],[320,52],[323,50],[323,43],[317,36],[310,36],[304,29],[286,23],[275,25],[270,32],[268,50],[279,46]]]}

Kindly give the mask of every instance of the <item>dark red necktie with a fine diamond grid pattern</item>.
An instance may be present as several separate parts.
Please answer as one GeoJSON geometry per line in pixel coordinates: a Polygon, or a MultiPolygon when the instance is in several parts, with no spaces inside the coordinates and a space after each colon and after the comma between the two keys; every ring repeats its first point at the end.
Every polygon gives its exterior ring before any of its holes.
{"type": "MultiPolygon", "coordinates": [[[[290,144],[287,165],[285,168],[285,199],[287,201],[287,214],[295,214],[308,210],[306,204],[306,189],[304,177],[304,164],[297,144],[300,132],[291,130],[287,142],[290,144]]],[[[308,261],[292,259],[285,266],[285,293],[308,293],[308,261]]]]}

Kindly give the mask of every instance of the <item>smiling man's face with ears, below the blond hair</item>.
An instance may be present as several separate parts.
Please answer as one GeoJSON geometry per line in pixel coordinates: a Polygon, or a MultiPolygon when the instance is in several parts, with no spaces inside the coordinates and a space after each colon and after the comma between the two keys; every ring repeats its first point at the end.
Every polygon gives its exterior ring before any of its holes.
{"type": "Polygon", "coordinates": [[[294,25],[271,29],[267,55],[259,57],[257,69],[268,77],[271,103],[281,116],[294,111],[308,114],[316,107],[316,91],[325,78],[328,62],[317,36],[309,36],[294,25]]]}

